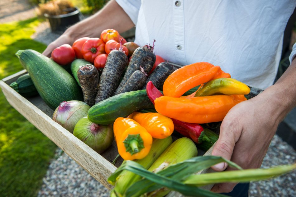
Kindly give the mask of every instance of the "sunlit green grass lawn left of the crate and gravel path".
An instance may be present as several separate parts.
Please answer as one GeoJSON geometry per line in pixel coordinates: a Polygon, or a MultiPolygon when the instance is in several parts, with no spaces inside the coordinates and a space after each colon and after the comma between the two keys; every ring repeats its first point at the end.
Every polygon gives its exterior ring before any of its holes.
{"type": "MultiPolygon", "coordinates": [[[[37,18],[0,24],[0,79],[23,70],[19,49],[42,52],[30,38],[37,18]]],[[[57,146],[19,114],[0,91],[0,196],[36,196],[57,146]]]]}

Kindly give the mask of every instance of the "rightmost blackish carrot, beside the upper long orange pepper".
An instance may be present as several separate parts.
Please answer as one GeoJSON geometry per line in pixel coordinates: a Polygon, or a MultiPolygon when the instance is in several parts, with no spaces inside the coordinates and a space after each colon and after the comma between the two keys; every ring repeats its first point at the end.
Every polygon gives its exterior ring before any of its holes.
{"type": "Polygon", "coordinates": [[[165,80],[168,78],[170,74],[174,72],[174,68],[168,62],[160,63],[155,70],[148,76],[143,89],[146,89],[146,85],[149,81],[152,81],[153,85],[157,89],[162,90],[162,87],[165,83],[165,80]]]}

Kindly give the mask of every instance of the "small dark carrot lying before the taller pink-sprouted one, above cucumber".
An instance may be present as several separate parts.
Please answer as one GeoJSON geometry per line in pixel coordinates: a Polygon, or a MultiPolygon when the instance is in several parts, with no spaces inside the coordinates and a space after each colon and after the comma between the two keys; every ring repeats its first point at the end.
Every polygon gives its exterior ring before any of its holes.
{"type": "Polygon", "coordinates": [[[135,71],[127,80],[127,82],[122,86],[118,94],[141,89],[141,87],[145,85],[146,79],[146,73],[143,71],[135,71]]]}

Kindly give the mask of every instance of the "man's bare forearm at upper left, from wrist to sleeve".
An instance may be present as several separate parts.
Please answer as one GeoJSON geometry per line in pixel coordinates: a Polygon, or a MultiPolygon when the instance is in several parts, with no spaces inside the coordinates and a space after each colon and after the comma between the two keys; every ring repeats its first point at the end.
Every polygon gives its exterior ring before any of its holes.
{"type": "Polygon", "coordinates": [[[74,42],[81,37],[99,38],[101,32],[108,28],[116,29],[119,33],[122,33],[133,26],[133,22],[125,11],[115,0],[111,0],[93,16],[69,27],[63,35],[68,36],[74,42]]]}

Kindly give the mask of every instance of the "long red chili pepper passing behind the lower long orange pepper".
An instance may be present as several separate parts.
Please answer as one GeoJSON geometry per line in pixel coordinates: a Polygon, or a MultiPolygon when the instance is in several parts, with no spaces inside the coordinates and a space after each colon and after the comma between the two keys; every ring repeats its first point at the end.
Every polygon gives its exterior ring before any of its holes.
{"type": "MultiPolygon", "coordinates": [[[[146,85],[147,96],[154,104],[154,100],[163,94],[149,81],[146,85]]],[[[174,130],[178,131],[184,137],[192,139],[195,143],[202,143],[203,141],[210,142],[211,140],[205,135],[203,127],[196,123],[182,122],[171,118],[174,123],[174,130]]]]}

